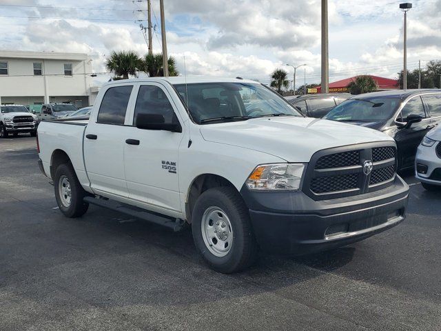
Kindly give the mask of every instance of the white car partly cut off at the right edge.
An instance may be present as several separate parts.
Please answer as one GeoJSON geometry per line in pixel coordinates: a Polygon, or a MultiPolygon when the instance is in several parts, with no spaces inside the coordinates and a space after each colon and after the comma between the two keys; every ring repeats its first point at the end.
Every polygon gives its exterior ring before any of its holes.
{"type": "Polygon", "coordinates": [[[416,178],[426,190],[441,191],[441,127],[422,139],[416,153],[416,178]]]}

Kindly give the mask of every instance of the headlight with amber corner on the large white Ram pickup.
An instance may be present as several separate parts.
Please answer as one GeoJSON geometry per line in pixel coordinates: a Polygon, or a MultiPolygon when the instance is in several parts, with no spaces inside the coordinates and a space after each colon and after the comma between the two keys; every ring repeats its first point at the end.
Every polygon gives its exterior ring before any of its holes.
{"type": "Polygon", "coordinates": [[[250,190],[298,190],[305,163],[258,165],[247,179],[250,190]]]}

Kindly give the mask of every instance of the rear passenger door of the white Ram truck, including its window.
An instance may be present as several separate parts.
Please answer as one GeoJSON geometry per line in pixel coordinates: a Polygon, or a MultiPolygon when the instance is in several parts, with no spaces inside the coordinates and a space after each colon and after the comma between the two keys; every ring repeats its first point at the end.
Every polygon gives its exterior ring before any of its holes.
{"type": "Polygon", "coordinates": [[[96,121],[85,129],[85,168],[93,190],[128,197],[124,173],[125,137],[130,127],[124,126],[127,105],[133,86],[107,89],[96,121]]]}

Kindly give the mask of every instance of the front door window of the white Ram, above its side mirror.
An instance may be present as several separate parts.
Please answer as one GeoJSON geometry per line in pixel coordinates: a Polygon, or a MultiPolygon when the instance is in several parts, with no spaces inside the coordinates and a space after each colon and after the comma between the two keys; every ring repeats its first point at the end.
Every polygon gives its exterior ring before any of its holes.
{"type": "Polygon", "coordinates": [[[163,115],[165,123],[176,123],[176,115],[165,92],[158,86],[143,85],[139,88],[136,98],[133,125],[136,126],[138,114],[163,115]]]}

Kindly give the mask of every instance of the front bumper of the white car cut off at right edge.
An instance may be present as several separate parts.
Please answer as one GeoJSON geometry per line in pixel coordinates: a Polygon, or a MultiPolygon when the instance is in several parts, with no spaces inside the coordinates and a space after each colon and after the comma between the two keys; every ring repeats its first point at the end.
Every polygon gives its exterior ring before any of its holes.
{"type": "Polygon", "coordinates": [[[436,147],[419,146],[415,159],[415,176],[422,183],[441,185],[441,159],[436,154],[436,147]]]}

